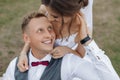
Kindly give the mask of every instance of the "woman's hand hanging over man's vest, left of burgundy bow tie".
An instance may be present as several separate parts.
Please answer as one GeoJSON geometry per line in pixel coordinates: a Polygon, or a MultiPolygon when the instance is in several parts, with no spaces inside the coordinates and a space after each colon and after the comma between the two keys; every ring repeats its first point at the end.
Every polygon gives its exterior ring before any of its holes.
{"type": "Polygon", "coordinates": [[[19,60],[18,60],[18,64],[17,67],[19,68],[19,70],[21,72],[25,72],[26,70],[28,70],[28,58],[27,58],[27,52],[29,50],[29,43],[25,43],[23,50],[20,53],[19,56],[19,60]]]}

